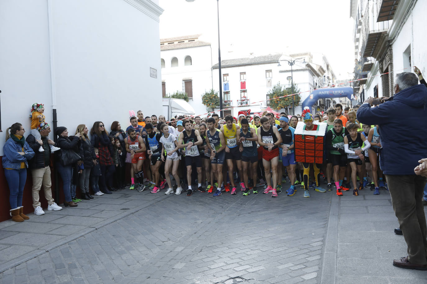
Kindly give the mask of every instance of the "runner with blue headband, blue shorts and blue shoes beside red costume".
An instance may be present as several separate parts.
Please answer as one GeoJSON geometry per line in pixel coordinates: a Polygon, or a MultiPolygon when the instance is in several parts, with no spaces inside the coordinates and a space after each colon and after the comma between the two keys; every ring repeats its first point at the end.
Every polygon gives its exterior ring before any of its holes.
{"type": "Polygon", "coordinates": [[[282,116],[280,119],[279,134],[282,138],[281,148],[279,148],[280,155],[282,156],[282,165],[286,167],[288,177],[291,182],[290,188],[286,191],[287,195],[292,196],[295,194],[295,150],[294,150],[294,133],[295,129],[288,125],[289,118],[282,116]]]}

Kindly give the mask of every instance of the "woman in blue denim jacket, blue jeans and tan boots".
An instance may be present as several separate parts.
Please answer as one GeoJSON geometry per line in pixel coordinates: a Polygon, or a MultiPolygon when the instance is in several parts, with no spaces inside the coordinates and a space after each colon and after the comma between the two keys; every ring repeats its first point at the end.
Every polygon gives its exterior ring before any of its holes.
{"type": "Polygon", "coordinates": [[[27,160],[34,156],[34,151],[26,143],[23,135],[25,130],[20,123],[14,123],[6,129],[6,143],[3,146],[3,169],[9,185],[10,215],[15,222],[28,220],[24,215],[22,196],[26,181],[27,160]],[[10,129],[10,133],[9,133],[10,129]]]}

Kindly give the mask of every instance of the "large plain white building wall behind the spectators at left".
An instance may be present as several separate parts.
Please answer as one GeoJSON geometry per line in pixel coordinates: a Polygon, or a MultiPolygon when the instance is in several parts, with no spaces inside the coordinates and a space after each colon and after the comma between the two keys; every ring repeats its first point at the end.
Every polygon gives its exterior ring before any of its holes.
{"type": "MultiPolygon", "coordinates": [[[[80,123],[91,127],[102,120],[109,130],[114,120],[129,125],[129,109],[161,112],[162,9],[150,0],[139,2],[146,6],[135,1],[137,9],[125,0],[102,5],[96,0],[51,1],[58,126],[73,133],[80,123]],[[150,67],[157,69],[157,78],[150,77],[150,67]]],[[[29,135],[35,102],[45,104],[52,126],[47,1],[1,1],[0,35],[7,43],[0,45],[2,130],[20,122],[29,135]]]]}

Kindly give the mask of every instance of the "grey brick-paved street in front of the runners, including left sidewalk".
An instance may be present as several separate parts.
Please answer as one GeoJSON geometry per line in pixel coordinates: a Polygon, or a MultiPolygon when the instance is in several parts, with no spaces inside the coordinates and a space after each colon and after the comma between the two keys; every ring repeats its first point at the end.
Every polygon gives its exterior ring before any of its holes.
{"type": "MultiPolygon", "coordinates": [[[[65,233],[72,238],[67,227],[82,226],[83,222],[92,230],[4,271],[0,282],[318,283],[331,192],[312,191],[311,198],[303,198],[302,194],[298,190],[292,197],[282,193],[271,198],[271,194],[245,197],[239,192],[239,195],[213,198],[200,192],[187,197],[164,195],[164,191],[150,194],[123,190],[79,203],[78,208],[65,208],[61,215],[58,212],[47,212],[41,217],[30,215],[31,219],[25,222],[35,223],[42,217],[52,221],[38,223],[43,234],[15,241],[23,244],[16,245],[15,250],[35,239],[52,236],[55,240],[65,239],[65,233]],[[149,198],[151,201],[147,202],[149,198]],[[108,221],[108,218],[96,219],[107,217],[108,209],[114,215],[117,214],[114,210],[132,206],[135,209],[141,201],[146,202],[143,209],[96,230],[93,228],[108,221]],[[85,210],[102,208],[103,211],[70,217],[79,214],[83,208],[80,204],[90,207],[85,210]],[[57,221],[62,218],[65,221],[57,221]],[[58,223],[63,227],[54,232],[48,227],[58,223]]],[[[25,226],[25,222],[17,225],[25,226]]],[[[13,227],[15,224],[1,229],[0,244],[4,240],[12,243],[12,236],[15,239],[19,236],[17,227],[13,227]],[[11,227],[14,231],[8,230],[11,227]]],[[[44,250],[43,245],[35,245],[38,252],[44,250]]],[[[9,254],[18,256],[12,248],[9,254]]],[[[3,258],[5,254],[1,255],[3,258]]],[[[22,256],[15,261],[19,258],[22,256]]]]}

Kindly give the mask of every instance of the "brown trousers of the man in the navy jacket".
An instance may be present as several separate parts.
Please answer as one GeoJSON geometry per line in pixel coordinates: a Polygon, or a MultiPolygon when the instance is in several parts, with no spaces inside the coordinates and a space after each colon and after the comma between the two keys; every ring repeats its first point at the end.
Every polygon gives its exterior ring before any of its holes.
{"type": "Polygon", "coordinates": [[[419,175],[386,175],[392,205],[408,246],[408,260],[427,264],[427,226],[422,203],[426,178],[419,175]]]}

